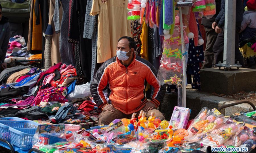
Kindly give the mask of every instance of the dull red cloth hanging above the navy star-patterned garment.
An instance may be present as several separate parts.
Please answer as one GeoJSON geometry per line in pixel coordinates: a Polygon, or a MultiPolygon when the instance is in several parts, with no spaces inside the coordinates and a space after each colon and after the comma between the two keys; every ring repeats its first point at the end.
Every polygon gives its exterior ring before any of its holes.
{"type": "Polygon", "coordinates": [[[194,33],[194,43],[195,43],[195,46],[198,46],[198,34],[199,34],[199,32],[198,32],[196,17],[195,17],[195,14],[193,12],[193,9],[191,9],[191,12],[190,12],[188,28],[189,28],[189,31],[191,33],[194,33]]]}

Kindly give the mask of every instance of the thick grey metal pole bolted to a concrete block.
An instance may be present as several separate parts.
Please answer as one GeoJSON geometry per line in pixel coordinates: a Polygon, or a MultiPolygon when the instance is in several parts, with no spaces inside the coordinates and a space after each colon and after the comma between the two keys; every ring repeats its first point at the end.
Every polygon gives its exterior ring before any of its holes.
{"type": "Polygon", "coordinates": [[[224,54],[223,63],[235,64],[235,42],[236,42],[236,1],[225,2],[225,26],[224,26],[224,54]]]}

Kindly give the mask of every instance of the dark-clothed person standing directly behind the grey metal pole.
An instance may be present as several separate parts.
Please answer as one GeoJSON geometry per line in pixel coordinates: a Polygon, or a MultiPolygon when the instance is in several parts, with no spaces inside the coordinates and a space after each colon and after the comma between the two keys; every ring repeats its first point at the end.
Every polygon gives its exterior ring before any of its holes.
{"type": "MultiPolygon", "coordinates": [[[[212,23],[212,29],[218,33],[215,44],[213,45],[214,65],[220,61],[223,63],[224,52],[224,23],[225,23],[225,3],[226,0],[221,0],[221,9],[215,21],[212,23]]],[[[244,59],[239,50],[239,32],[243,21],[243,3],[242,0],[236,0],[236,42],[235,42],[235,63],[239,61],[244,67],[244,59]]]]}

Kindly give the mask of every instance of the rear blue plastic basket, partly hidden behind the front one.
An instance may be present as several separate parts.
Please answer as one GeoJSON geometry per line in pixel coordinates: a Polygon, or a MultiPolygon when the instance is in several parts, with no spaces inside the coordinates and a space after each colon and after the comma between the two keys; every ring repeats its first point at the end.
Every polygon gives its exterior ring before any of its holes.
{"type": "Polygon", "coordinates": [[[9,127],[15,127],[16,121],[25,121],[18,117],[4,117],[0,118],[0,138],[10,142],[10,131],[9,127]]]}

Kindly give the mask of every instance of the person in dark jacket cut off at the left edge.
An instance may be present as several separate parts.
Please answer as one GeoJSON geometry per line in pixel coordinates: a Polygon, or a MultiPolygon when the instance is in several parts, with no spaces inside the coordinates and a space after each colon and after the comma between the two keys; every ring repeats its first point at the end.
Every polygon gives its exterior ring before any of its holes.
{"type": "Polygon", "coordinates": [[[0,4],[0,63],[1,68],[6,69],[7,63],[4,62],[10,39],[9,19],[2,16],[2,6],[0,4]]]}

